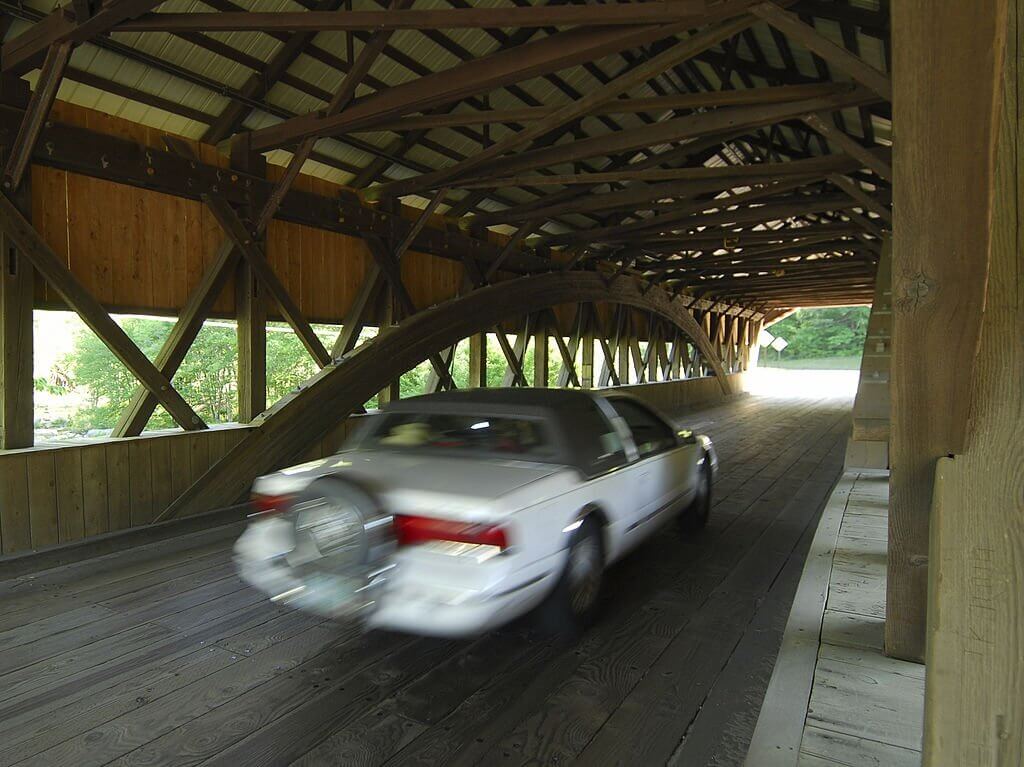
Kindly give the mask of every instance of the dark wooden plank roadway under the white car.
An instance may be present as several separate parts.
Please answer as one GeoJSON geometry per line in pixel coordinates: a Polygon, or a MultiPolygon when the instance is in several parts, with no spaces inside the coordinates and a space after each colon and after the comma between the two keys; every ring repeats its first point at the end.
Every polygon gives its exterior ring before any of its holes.
{"type": "Polygon", "coordinates": [[[572,646],[271,605],[233,573],[233,526],[2,582],[0,765],[739,764],[849,407],[682,418],[721,455],[711,523],[615,566],[572,646]]]}

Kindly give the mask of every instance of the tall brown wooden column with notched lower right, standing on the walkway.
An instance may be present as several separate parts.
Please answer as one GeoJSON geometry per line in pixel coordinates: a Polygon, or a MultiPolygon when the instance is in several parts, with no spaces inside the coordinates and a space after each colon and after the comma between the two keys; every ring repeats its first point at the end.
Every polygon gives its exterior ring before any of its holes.
{"type": "Polygon", "coordinates": [[[893,4],[893,358],[886,651],[923,661],[936,461],[969,443],[1007,0],[893,4]]]}

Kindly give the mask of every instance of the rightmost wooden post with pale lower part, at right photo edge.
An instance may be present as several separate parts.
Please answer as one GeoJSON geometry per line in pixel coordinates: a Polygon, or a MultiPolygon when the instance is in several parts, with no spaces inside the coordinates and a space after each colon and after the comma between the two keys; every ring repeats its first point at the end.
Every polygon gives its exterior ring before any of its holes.
{"type": "Polygon", "coordinates": [[[932,507],[924,762],[1024,764],[1024,0],[1011,5],[970,438],[932,507]]]}

